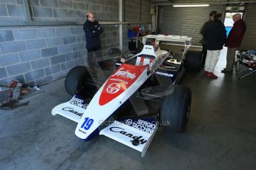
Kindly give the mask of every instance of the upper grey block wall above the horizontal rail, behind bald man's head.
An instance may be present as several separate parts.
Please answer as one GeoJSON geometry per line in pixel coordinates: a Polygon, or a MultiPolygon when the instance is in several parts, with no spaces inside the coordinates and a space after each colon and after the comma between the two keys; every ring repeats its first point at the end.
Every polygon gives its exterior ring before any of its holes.
{"type": "MultiPolygon", "coordinates": [[[[28,0],[33,21],[84,21],[92,11],[98,21],[118,21],[118,0],[28,0]]],[[[23,21],[22,0],[0,0],[2,21],[23,21]]]]}

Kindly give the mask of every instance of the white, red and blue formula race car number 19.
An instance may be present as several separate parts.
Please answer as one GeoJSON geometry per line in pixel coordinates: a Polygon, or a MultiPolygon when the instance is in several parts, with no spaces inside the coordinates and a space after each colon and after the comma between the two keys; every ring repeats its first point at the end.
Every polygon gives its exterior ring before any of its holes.
{"type": "Polygon", "coordinates": [[[191,90],[177,83],[188,62],[193,61],[192,69],[196,63],[201,67],[202,57],[191,59],[195,55],[189,55],[193,54],[188,51],[191,38],[186,36],[147,35],[143,44],[137,55],[117,61],[106,81],[87,67],[71,69],[65,89],[73,98],[55,106],[52,115],[78,123],[75,135],[82,140],[105,135],[142,152],[142,157],[159,126],[183,132],[189,118],[191,90]],[[161,50],[163,42],[163,47],[170,44],[183,48],[177,55],[170,49],[161,50]]]}

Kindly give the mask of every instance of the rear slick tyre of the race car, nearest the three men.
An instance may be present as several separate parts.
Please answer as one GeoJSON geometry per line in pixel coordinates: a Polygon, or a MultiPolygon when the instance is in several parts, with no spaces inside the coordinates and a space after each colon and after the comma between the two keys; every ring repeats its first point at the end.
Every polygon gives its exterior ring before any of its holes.
{"type": "Polygon", "coordinates": [[[186,69],[199,72],[202,68],[203,52],[201,51],[188,51],[186,53],[185,67],[186,69]]]}

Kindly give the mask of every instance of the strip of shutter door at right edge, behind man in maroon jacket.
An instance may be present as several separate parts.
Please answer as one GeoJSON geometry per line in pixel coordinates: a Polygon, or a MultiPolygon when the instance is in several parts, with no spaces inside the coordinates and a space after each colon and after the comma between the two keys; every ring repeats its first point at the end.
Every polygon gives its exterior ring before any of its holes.
{"type": "Polygon", "coordinates": [[[243,37],[241,49],[256,50],[256,4],[248,4],[246,7],[246,33],[243,37]]]}

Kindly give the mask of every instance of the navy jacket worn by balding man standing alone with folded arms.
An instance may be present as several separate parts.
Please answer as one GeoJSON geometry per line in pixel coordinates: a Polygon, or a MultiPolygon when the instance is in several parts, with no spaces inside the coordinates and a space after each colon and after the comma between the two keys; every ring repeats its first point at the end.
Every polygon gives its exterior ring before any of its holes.
{"type": "Polygon", "coordinates": [[[98,21],[85,21],[83,26],[86,38],[86,47],[100,47],[100,34],[103,33],[103,28],[98,21]]]}

